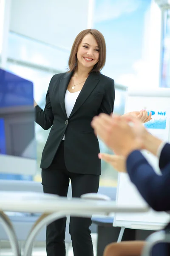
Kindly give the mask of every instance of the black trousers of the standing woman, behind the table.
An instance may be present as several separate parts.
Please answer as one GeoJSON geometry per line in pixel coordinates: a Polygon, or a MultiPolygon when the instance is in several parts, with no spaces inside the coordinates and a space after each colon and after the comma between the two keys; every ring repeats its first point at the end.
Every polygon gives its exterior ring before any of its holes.
{"type": "MultiPolygon", "coordinates": [[[[75,159],[76,164],[76,159],[75,159]]],[[[73,197],[98,192],[99,175],[85,175],[68,172],[64,160],[64,142],[61,143],[48,169],[42,169],[42,185],[45,193],[67,196],[69,179],[73,197]]],[[[66,218],[59,219],[47,226],[47,256],[65,256],[65,225],[66,218]]],[[[91,241],[91,218],[70,218],[70,234],[74,256],[93,256],[91,241]]]]}

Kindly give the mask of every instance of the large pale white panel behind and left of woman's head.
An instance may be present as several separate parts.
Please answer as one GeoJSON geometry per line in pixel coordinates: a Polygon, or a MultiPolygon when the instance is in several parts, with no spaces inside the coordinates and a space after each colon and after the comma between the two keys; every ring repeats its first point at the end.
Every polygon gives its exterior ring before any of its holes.
{"type": "Polygon", "coordinates": [[[10,30],[58,47],[71,48],[88,27],[91,0],[12,0],[10,30]]]}

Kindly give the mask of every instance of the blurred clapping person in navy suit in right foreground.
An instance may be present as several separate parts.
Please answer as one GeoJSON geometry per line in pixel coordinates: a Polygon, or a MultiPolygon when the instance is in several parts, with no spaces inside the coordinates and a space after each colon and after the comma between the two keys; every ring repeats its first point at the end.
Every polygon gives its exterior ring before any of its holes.
{"type": "MultiPolygon", "coordinates": [[[[99,154],[119,172],[127,172],[145,201],[156,211],[170,211],[170,144],[148,133],[141,122],[132,117],[120,118],[101,115],[92,121],[96,134],[118,155],[99,154]],[[133,122],[131,127],[128,122],[133,122]],[[159,157],[162,175],[157,175],[140,149],[159,157]],[[147,186],[149,184],[149,186],[147,186]]],[[[170,223],[164,228],[170,230],[170,223]]],[[[104,256],[140,256],[144,241],[112,243],[105,248],[104,256]]],[[[170,255],[169,244],[153,247],[153,256],[170,255]]]]}

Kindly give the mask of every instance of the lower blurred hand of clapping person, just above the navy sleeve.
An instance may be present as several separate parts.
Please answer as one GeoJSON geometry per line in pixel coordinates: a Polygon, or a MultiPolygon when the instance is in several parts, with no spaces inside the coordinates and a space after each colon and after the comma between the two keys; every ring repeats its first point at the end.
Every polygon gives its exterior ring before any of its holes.
{"type": "Polygon", "coordinates": [[[113,168],[116,169],[116,171],[126,172],[125,157],[111,155],[111,154],[105,154],[105,153],[99,153],[99,158],[104,160],[105,162],[111,164],[111,166],[113,166],[113,168]]]}

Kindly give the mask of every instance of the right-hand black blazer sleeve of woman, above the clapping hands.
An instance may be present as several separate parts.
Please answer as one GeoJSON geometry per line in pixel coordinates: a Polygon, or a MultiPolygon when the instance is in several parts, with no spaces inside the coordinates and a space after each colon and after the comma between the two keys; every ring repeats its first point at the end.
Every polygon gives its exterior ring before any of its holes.
{"type": "Polygon", "coordinates": [[[105,95],[102,99],[99,113],[111,114],[113,112],[115,99],[114,80],[111,79],[105,87],[105,95]]]}

